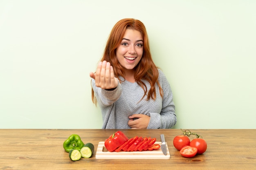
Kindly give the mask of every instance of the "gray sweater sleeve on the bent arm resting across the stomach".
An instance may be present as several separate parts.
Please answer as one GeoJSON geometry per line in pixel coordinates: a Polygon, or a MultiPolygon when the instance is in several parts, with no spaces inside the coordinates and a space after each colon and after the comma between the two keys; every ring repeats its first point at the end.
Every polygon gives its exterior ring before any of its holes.
{"type": "Polygon", "coordinates": [[[177,122],[171,86],[162,71],[159,71],[159,83],[161,84],[164,92],[162,110],[160,114],[148,113],[150,116],[148,129],[168,129],[172,128],[177,122]]]}

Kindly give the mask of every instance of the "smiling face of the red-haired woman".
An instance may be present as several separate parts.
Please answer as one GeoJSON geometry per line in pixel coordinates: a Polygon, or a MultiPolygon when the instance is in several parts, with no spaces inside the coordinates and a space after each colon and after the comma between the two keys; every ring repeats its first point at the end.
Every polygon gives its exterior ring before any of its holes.
{"type": "Polygon", "coordinates": [[[121,44],[117,47],[117,60],[127,70],[137,66],[143,55],[143,38],[139,31],[126,29],[121,44]]]}

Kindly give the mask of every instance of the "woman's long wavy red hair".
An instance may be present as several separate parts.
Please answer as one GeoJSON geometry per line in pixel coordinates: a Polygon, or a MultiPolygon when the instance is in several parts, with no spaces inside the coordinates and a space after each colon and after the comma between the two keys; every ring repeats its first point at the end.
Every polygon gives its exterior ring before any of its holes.
{"type": "MultiPolygon", "coordinates": [[[[161,97],[163,97],[163,90],[158,82],[158,70],[157,66],[154,64],[150,48],[149,48],[149,41],[148,41],[148,34],[146,32],[146,28],[144,24],[139,21],[132,18],[126,18],[118,21],[115,26],[112,28],[112,31],[110,32],[106,48],[103,53],[103,57],[101,58],[101,61],[106,60],[107,62],[110,62],[110,64],[114,68],[114,74],[115,77],[119,79],[121,82],[121,77],[125,77],[125,72],[123,66],[118,62],[116,51],[117,47],[121,44],[121,41],[124,37],[124,33],[126,29],[133,29],[137,30],[141,33],[143,38],[143,55],[141,57],[141,60],[137,64],[135,69],[134,78],[135,81],[143,88],[144,90],[144,96],[141,98],[143,99],[147,95],[147,100],[150,98],[155,100],[156,98],[156,90],[155,90],[155,84],[159,87],[159,92],[161,97]],[[146,80],[150,84],[150,89],[147,89],[146,84],[142,81],[146,80]]],[[[92,89],[92,102],[94,104],[97,104],[96,97],[94,96],[94,91],[92,89]]]]}

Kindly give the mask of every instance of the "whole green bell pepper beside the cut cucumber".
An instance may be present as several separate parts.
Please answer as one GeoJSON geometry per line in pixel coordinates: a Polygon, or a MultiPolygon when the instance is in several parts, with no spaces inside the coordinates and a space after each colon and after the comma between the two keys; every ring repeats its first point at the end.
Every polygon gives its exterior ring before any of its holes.
{"type": "Polygon", "coordinates": [[[76,134],[70,135],[70,137],[68,137],[63,143],[63,148],[66,152],[70,152],[72,149],[81,150],[83,146],[83,141],[81,140],[80,136],[76,134]]]}

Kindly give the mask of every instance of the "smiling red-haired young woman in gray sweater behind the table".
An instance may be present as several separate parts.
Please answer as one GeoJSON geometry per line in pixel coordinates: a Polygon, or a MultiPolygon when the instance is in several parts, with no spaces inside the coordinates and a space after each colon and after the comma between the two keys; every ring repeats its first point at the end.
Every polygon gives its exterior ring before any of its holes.
{"type": "Polygon", "coordinates": [[[102,128],[157,129],[176,124],[170,84],[155,66],[144,24],[120,20],[113,27],[92,78],[92,100],[101,107],[102,128]]]}

